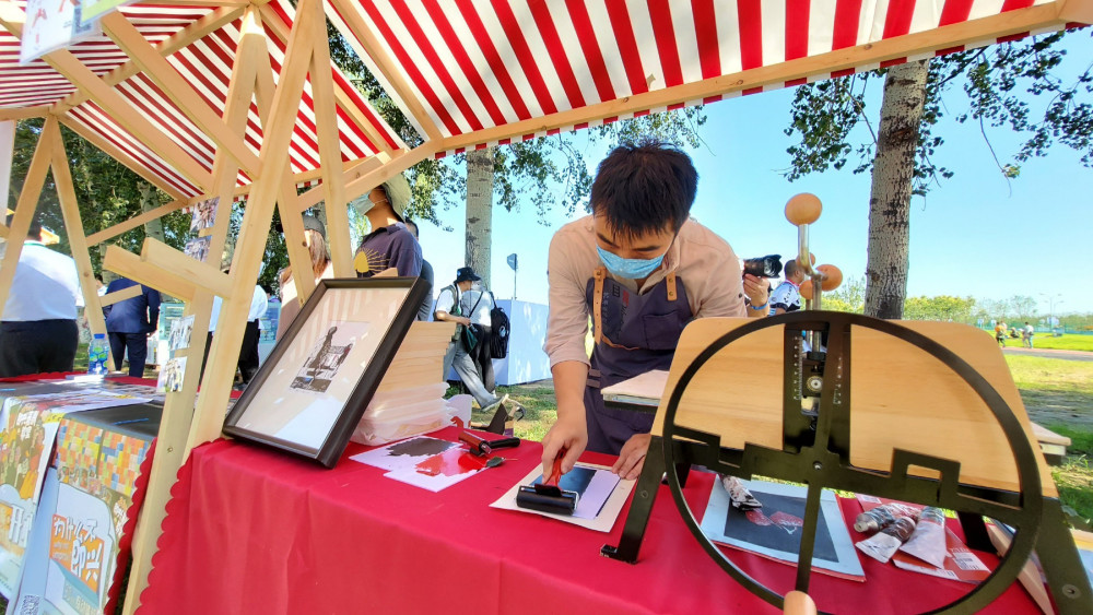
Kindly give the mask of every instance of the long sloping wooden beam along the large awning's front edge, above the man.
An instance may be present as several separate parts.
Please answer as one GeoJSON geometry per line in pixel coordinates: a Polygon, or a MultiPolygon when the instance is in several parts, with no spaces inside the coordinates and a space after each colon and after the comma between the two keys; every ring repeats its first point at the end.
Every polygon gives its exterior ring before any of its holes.
{"type": "MultiPolygon", "coordinates": [[[[344,0],[333,0],[333,3],[338,4],[342,1],[344,0]]],[[[1061,28],[1069,17],[1081,17],[1084,21],[1093,21],[1093,14],[1090,14],[1093,13],[1093,9],[1090,9],[1088,0],[1078,3],[1073,2],[1076,0],[1068,0],[1061,10],[1059,2],[1016,9],[917,34],[878,40],[875,43],[789,60],[768,67],[656,90],[645,94],[634,94],[625,98],[531,118],[486,130],[458,134],[444,139],[437,145],[436,151],[447,152],[461,147],[473,147],[482,143],[495,143],[503,139],[543,133],[555,128],[571,127],[609,117],[625,116],[647,109],[665,108],[680,103],[702,100],[709,96],[731,94],[765,85],[780,85],[796,79],[828,74],[845,69],[868,67],[885,60],[929,54],[937,49],[947,49],[1011,34],[1020,34],[1045,27],[1061,28]]]]}

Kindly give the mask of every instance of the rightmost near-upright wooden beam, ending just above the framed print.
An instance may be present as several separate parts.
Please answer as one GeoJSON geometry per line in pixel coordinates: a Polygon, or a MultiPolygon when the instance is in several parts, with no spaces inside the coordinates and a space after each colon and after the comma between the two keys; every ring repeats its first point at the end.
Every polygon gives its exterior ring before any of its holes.
{"type": "MultiPolygon", "coordinates": [[[[345,179],[341,170],[341,137],[338,131],[338,104],[334,83],[330,74],[330,48],[327,44],[327,23],[316,24],[315,46],[312,51],[312,98],[315,104],[316,137],[319,142],[319,163],[322,170],[322,200],[327,212],[327,240],[334,267],[334,276],[352,277],[353,246],[349,233],[349,201],[345,199],[345,179]],[[318,29],[321,27],[321,31],[318,29]]],[[[295,196],[294,196],[295,197],[295,196]]],[[[296,199],[292,200],[294,204],[296,199]]],[[[290,203],[285,203],[290,205],[290,203]]],[[[291,206],[293,213],[295,208],[291,206]]]]}

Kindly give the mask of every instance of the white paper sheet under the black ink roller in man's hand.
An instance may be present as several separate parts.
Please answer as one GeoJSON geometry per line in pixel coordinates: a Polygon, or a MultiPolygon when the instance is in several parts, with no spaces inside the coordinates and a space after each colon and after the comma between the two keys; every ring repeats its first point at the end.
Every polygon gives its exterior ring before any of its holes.
{"type": "MultiPolygon", "coordinates": [[[[537,480],[542,478],[542,470],[539,466],[536,466],[530,474],[525,476],[522,481],[508,489],[505,495],[501,496],[497,501],[490,506],[504,510],[518,510],[520,512],[541,515],[597,532],[610,532],[619,519],[619,513],[622,511],[626,498],[634,490],[634,481],[619,480],[619,476],[613,474],[611,469],[606,465],[577,463],[575,468],[588,468],[595,470],[596,474],[580,495],[580,499],[577,501],[577,510],[574,511],[573,516],[540,512],[516,506],[516,494],[519,493],[520,486],[530,485],[537,480]],[[597,510],[598,515],[596,513],[597,510]],[[589,517],[589,513],[591,513],[591,517],[589,517]]],[[[563,476],[563,482],[564,480],[563,476]]],[[[564,484],[562,486],[563,488],[565,487],[564,484]]]]}

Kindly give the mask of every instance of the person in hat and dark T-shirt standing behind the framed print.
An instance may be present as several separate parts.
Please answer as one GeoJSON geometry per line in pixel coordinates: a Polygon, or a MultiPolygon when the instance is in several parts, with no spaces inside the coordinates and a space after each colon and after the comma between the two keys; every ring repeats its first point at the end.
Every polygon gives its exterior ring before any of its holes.
{"type": "Polygon", "coordinates": [[[393,269],[402,277],[421,275],[421,245],[407,228],[402,212],[410,204],[410,184],[396,175],[356,201],[372,232],[361,239],[353,258],[357,277],[372,277],[393,269]]]}

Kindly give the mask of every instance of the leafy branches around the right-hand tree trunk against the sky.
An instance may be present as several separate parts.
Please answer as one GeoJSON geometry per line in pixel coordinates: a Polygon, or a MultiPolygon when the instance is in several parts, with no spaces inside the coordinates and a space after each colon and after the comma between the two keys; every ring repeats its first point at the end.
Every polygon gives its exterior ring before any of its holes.
{"type": "MultiPolygon", "coordinates": [[[[931,156],[944,143],[932,130],[955,105],[944,94],[956,83],[962,84],[967,108],[953,119],[977,122],[984,138],[989,127],[1021,134],[1024,140],[1012,159],[1003,163],[995,156],[1003,177],[1018,177],[1021,163],[1047,155],[1056,141],[1078,151],[1083,165],[1093,166],[1093,104],[1089,99],[1093,66],[1069,81],[1056,74],[1067,54],[1066,42],[1083,35],[1081,31],[1059,32],[931,59],[914,193],[925,194],[931,182],[953,175],[951,169],[935,165],[931,156]],[[1027,102],[1031,97],[1043,100],[1043,107],[1034,109],[1027,102]]],[[[856,158],[854,173],[872,169],[877,135],[866,114],[866,90],[885,73],[881,69],[798,87],[785,129],[787,135],[800,138],[798,145],[787,150],[790,167],[785,176],[790,181],[843,168],[851,157],[856,158]],[[859,121],[866,122],[872,139],[851,143],[850,132],[859,121]]]]}

